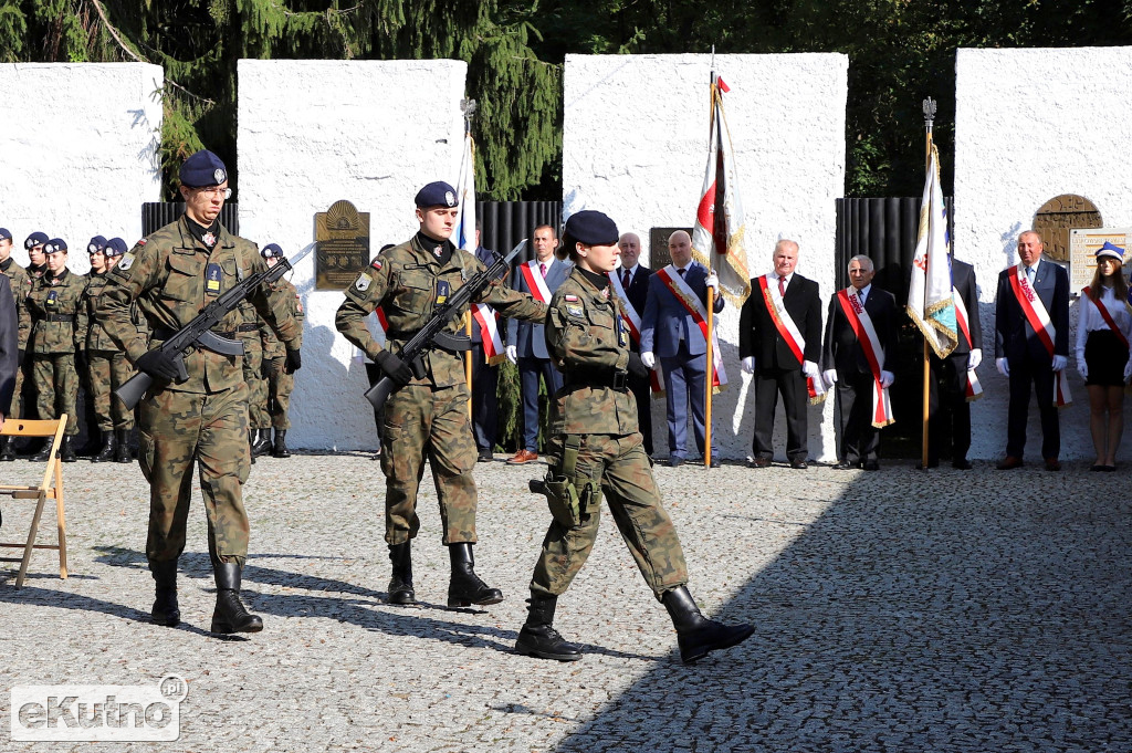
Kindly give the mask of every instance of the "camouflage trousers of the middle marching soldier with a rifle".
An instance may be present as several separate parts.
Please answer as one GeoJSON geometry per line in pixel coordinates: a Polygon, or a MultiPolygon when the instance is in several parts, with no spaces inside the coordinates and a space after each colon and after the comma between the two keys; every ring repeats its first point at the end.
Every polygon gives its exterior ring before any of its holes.
{"type": "Polygon", "coordinates": [[[409,385],[385,403],[381,470],[385,472],[385,540],[417,537],[417,490],[428,455],[440,502],[444,544],[475,542],[475,440],[468,420],[468,385],[432,390],[409,385]]]}

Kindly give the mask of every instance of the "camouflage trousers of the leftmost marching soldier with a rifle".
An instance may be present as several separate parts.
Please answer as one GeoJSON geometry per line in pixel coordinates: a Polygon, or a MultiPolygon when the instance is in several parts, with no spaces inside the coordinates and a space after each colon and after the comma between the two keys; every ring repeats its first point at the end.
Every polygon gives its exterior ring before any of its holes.
{"type": "Polygon", "coordinates": [[[142,399],[138,463],[149,482],[145,550],[151,561],[175,559],[185,550],[196,462],[208,520],[208,555],[214,565],[243,565],[248,514],[242,486],[251,469],[247,395],[240,384],[211,394],[151,391],[142,399]]]}

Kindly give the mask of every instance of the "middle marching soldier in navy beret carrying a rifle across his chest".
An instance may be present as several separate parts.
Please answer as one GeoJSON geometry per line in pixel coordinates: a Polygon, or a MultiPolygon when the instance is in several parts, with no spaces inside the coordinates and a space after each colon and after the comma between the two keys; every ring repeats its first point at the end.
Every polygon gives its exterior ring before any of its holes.
{"type": "MultiPolygon", "coordinates": [[[[335,317],[338,332],[363,350],[394,383],[403,385],[385,404],[381,434],[385,540],[393,563],[389,601],[415,601],[410,546],[420,525],[417,490],[427,455],[445,525],[443,540],[452,562],[448,606],[497,604],[503,600],[503,592],[489,588],[473,570],[472,545],[477,536],[472,470],[477,452],[468,418],[462,353],[432,350],[424,356],[426,374],[419,377],[395,354],[432,316],[438,303],[484,267],[474,255],[457,249],[448,240],[458,213],[452,186],[429,183],[417,194],[415,203],[420,232],[374,259],[371,267],[346,290],[335,317]],[[366,317],[378,306],[389,323],[388,349],[383,349],[366,328],[366,317]]],[[[508,290],[498,281],[477,302],[490,303],[504,316],[529,320],[540,320],[546,313],[543,303],[508,290]]],[[[446,331],[458,332],[461,323],[462,319],[449,322],[446,331]]]]}

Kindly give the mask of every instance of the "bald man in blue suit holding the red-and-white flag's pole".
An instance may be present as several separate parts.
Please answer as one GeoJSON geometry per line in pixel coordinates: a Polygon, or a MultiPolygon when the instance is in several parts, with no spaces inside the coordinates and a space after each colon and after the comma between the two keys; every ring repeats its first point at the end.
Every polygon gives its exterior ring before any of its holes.
{"type": "MultiPolygon", "coordinates": [[[[692,290],[701,306],[709,306],[709,289],[715,291],[714,311],[723,310],[719,280],[707,268],[692,260],[692,239],[677,230],[668,239],[672,263],[664,267],[692,290]]],[[[641,360],[650,369],[660,359],[668,397],[668,464],[680,465],[687,459],[688,405],[696,447],[703,455],[705,444],[704,412],[706,407],[707,341],[692,314],[677,299],[661,275],[649,277],[649,293],[641,322],[641,360]]],[[[712,464],[715,460],[712,459],[712,464]]]]}

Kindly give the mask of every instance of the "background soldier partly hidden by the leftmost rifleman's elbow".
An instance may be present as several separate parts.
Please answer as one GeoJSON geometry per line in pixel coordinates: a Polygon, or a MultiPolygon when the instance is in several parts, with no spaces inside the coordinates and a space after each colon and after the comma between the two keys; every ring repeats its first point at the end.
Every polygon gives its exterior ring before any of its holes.
{"type": "Polygon", "coordinates": [[[94,249],[91,250],[91,275],[83,299],[89,324],[86,334],[86,362],[91,371],[94,413],[97,417],[98,431],[102,434],[102,447],[91,457],[91,462],[129,463],[132,460],[130,431],[134,429],[134,411],[126,408],[113,391],[134,376],[134,369],[126,360],[126,351],[106,334],[96,313],[98,297],[106,286],[109,272],[126,254],[126,241],[121,238],[111,238],[102,248],[93,243],[91,248],[94,249]]]}

